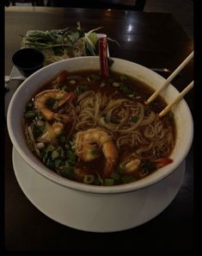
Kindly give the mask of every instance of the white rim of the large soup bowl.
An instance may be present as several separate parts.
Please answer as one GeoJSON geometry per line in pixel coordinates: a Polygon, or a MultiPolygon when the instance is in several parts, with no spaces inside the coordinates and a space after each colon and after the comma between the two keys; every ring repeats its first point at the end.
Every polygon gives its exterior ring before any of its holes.
{"type": "MultiPolygon", "coordinates": [[[[79,191],[95,193],[95,194],[118,194],[118,193],[126,193],[126,192],[130,192],[130,191],[135,191],[135,190],[142,190],[142,189],[149,187],[150,185],[160,182],[162,179],[167,178],[169,175],[171,175],[172,172],[174,172],[174,170],[179,165],[181,165],[181,162],[184,159],[186,159],[187,153],[189,152],[190,147],[192,146],[192,143],[193,143],[193,116],[192,116],[191,111],[184,99],[182,99],[182,101],[184,102],[184,106],[187,111],[187,118],[189,118],[189,120],[190,120],[190,138],[187,141],[187,144],[186,144],[187,147],[183,148],[183,154],[181,155],[181,159],[179,159],[176,162],[173,162],[172,168],[168,169],[168,172],[158,172],[157,176],[154,176],[154,175],[152,176],[152,174],[150,174],[147,178],[142,178],[138,181],[135,181],[135,182],[132,182],[129,184],[119,184],[119,185],[114,185],[114,186],[97,186],[97,185],[92,185],[92,184],[82,184],[82,183],[78,183],[77,181],[63,178],[63,177],[59,176],[57,173],[55,173],[52,170],[50,170],[49,168],[47,168],[46,165],[41,164],[39,159],[34,161],[34,160],[28,158],[28,155],[26,153],[24,153],[24,151],[21,149],[18,141],[16,140],[15,132],[14,132],[13,128],[11,127],[12,108],[15,103],[15,97],[17,97],[18,93],[22,90],[22,88],[25,87],[26,84],[28,84],[29,80],[31,80],[35,76],[39,75],[40,72],[43,72],[46,69],[50,69],[51,66],[58,66],[59,63],[70,62],[73,59],[74,59],[74,61],[77,61],[77,59],[78,59],[78,61],[80,59],[98,59],[98,61],[99,61],[98,56],[83,56],[83,57],[77,57],[77,58],[72,58],[72,59],[64,59],[64,60],[58,61],[56,63],[52,63],[49,66],[44,66],[39,71],[34,72],[24,82],[22,82],[21,85],[15,91],[14,96],[11,98],[10,103],[9,103],[8,113],[7,113],[7,126],[8,126],[8,131],[9,131],[9,137],[13,143],[13,146],[15,147],[15,150],[18,153],[20,153],[21,158],[24,159],[26,161],[26,163],[32,167],[32,169],[34,169],[34,172],[40,173],[40,175],[48,178],[55,184],[62,185],[64,187],[72,189],[72,190],[79,190],[79,191]]],[[[126,59],[118,59],[118,58],[112,58],[112,59],[114,61],[116,61],[116,60],[124,61],[125,63],[127,63],[129,65],[141,66],[141,68],[144,68],[147,71],[150,71],[151,74],[155,74],[155,76],[158,76],[159,78],[162,79],[162,76],[160,76],[156,72],[153,72],[152,70],[150,70],[149,68],[147,68],[145,66],[139,65],[138,63],[135,63],[135,62],[132,62],[132,61],[129,61],[126,59]]],[[[165,80],[165,78],[163,78],[163,79],[165,80]]],[[[173,85],[170,84],[169,86],[173,86],[173,85]]],[[[177,91],[174,88],[174,86],[173,86],[173,89],[174,89],[174,91],[176,91],[176,93],[179,93],[179,91],[177,91]]],[[[23,135],[23,134],[21,133],[21,135],[23,135]]]]}

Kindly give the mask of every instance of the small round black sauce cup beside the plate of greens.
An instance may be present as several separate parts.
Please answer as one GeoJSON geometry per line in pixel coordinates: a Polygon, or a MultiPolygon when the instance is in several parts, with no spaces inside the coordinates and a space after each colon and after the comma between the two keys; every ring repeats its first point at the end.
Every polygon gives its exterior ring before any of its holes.
{"type": "Polygon", "coordinates": [[[44,66],[45,56],[40,50],[22,48],[14,53],[12,60],[14,66],[21,72],[21,75],[28,78],[28,76],[44,66]]]}

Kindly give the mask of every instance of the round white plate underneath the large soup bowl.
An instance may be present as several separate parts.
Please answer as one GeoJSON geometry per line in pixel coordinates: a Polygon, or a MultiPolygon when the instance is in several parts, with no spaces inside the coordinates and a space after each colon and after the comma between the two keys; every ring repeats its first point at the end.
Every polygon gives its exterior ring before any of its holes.
{"type": "Polygon", "coordinates": [[[167,178],[145,189],[128,192],[125,197],[125,193],[83,193],[52,183],[21,159],[15,147],[13,165],[21,190],[37,209],[65,226],[91,232],[121,231],[149,222],[174,200],[185,172],[184,160],[167,178]],[[115,197],[119,197],[119,203],[113,204],[115,197]],[[89,203],[94,207],[88,207],[89,203]],[[126,214],[124,209],[129,204],[131,211],[126,214]],[[116,214],[112,215],[112,211],[116,214]]]}

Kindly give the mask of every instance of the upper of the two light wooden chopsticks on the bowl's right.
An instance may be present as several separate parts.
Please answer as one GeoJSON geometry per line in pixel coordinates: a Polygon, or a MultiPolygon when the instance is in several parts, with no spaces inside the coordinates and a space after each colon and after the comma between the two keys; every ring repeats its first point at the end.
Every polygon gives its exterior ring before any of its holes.
{"type": "Polygon", "coordinates": [[[193,52],[190,53],[188,55],[188,57],[181,63],[180,66],[178,66],[174,72],[172,72],[172,74],[166,79],[166,81],[162,84],[162,86],[160,88],[158,88],[150,97],[149,99],[146,101],[147,104],[151,103],[158,95],[159,93],[162,91],[162,89],[164,89],[180,72],[181,70],[187,66],[187,64],[189,63],[189,61],[193,59],[193,52]]]}

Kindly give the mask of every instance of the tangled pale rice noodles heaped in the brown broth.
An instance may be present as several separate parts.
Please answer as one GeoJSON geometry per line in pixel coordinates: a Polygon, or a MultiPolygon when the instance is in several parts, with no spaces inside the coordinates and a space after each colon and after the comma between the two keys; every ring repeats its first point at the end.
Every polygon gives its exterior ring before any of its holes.
{"type": "Polygon", "coordinates": [[[163,155],[167,155],[173,147],[171,128],[165,128],[154,111],[150,110],[145,115],[142,103],[127,98],[111,99],[111,96],[95,91],[83,92],[77,103],[75,109],[71,109],[71,115],[76,117],[77,131],[102,128],[113,135],[118,149],[137,147],[137,155],[144,159],[162,156],[162,148],[163,155]],[[132,122],[131,116],[136,116],[137,122],[132,122]]]}

